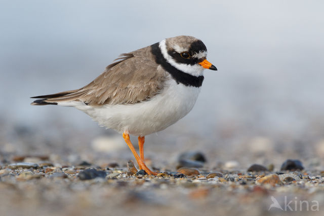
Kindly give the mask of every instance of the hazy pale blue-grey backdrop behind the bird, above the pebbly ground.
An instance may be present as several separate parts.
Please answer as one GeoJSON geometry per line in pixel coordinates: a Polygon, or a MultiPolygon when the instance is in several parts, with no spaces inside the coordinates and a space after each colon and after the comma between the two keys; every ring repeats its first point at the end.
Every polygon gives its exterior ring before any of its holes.
{"type": "Polygon", "coordinates": [[[322,1],[1,1],[0,120],[99,127],[70,107],[29,97],[77,89],[120,53],[176,35],[208,48],[192,112],[169,131],[307,130],[324,119],[322,1]]]}

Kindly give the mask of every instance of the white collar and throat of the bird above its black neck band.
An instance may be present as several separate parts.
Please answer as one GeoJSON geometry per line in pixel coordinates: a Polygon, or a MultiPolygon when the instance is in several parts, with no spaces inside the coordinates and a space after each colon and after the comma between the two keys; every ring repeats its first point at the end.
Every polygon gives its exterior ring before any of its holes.
{"type": "Polygon", "coordinates": [[[160,48],[161,53],[163,57],[167,60],[167,62],[169,62],[175,68],[195,77],[204,75],[205,68],[200,66],[199,64],[194,64],[194,65],[183,64],[183,63],[177,63],[175,60],[173,60],[173,58],[168,54],[166,40],[161,41],[158,44],[158,47],[160,48]]]}

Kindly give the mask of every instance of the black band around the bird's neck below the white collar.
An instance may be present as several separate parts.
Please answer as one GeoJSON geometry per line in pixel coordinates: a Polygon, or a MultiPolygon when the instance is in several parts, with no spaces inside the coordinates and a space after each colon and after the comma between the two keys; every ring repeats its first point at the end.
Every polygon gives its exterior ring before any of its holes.
{"type": "Polygon", "coordinates": [[[163,56],[158,43],[151,45],[151,52],[155,57],[155,62],[160,64],[177,84],[182,83],[185,86],[200,87],[203,84],[204,76],[195,77],[172,66],[163,56]]]}

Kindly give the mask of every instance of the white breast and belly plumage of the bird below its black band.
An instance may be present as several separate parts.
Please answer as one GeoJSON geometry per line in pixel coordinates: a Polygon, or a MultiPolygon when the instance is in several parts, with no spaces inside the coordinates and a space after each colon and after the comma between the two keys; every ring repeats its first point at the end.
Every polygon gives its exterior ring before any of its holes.
{"type": "Polygon", "coordinates": [[[75,106],[91,116],[100,125],[119,133],[127,131],[137,136],[145,136],[176,123],[187,115],[200,92],[200,88],[167,82],[163,92],[135,104],[75,106]]]}

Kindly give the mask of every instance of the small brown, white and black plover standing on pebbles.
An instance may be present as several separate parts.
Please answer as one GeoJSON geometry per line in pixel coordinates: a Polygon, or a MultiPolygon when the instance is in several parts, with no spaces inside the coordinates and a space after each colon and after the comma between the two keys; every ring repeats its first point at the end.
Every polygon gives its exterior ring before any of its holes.
{"type": "Polygon", "coordinates": [[[121,134],[140,169],[145,136],[166,129],[187,115],[204,81],[204,69],[217,70],[207,60],[205,44],[180,35],[121,54],[88,85],[56,94],[40,95],[31,105],[72,106],[99,125],[121,134]],[[140,155],[130,134],[138,136],[140,155]]]}

